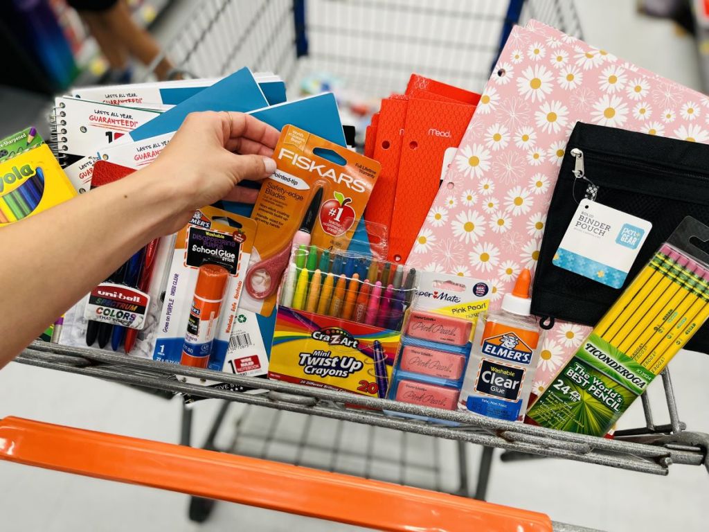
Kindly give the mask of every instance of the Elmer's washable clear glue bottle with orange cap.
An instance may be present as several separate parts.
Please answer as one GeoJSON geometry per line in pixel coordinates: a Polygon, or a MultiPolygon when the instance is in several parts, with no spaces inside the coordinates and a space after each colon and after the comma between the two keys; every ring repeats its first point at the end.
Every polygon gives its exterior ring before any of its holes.
{"type": "Polygon", "coordinates": [[[501,311],[479,319],[459,409],[522,421],[539,361],[540,330],[530,313],[531,274],[522,270],[501,311]]]}

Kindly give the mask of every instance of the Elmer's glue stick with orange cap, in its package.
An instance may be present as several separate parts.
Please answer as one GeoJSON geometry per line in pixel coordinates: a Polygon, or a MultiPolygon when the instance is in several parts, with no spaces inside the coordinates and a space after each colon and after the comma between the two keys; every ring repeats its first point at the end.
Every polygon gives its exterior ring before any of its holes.
{"type": "Polygon", "coordinates": [[[229,272],[223,266],[204,264],[199,267],[180,364],[207,367],[228,278],[229,272]]]}

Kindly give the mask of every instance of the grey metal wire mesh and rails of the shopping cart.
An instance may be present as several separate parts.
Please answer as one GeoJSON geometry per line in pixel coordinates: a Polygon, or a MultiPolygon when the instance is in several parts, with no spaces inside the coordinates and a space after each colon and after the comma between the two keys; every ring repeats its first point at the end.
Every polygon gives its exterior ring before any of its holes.
{"type": "MultiPolygon", "coordinates": [[[[514,23],[537,18],[581,36],[573,4],[558,0],[206,0],[196,4],[186,25],[164,52],[183,75],[215,77],[246,65],[254,71],[276,72],[294,93],[301,80],[318,72],[328,72],[369,97],[402,89],[411,72],[463,87],[481,87],[514,23]]],[[[182,393],[221,399],[223,406],[203,445],[206,449],[215,448],[216,433],[230,402],[236,401],[248,405],[233,444],[233,451],[239,455],[423,485],[478,499],[485,498],[493,448],[503,449],[502,460],[536,455],[654,475],[667,475],[674,463],[709,468],[709,436],[687,431],[681,423],[667,371],[662,374],[666,398],[663,408],[669,412],[670,423],[654,423],[645,394],[642,402],[647,425],[618,431],[615,439],[606,439],[180,367],[180,376],[218,379],[264,393],[205,388],[176,378],[173,365],[39,342],[26,349],[18,362],[130,384],[167,397],[182,393]],[[382,410],[430,416],[442,422],[384,415],[382,410]],[[291,424],[286,429],[288,419],[291,424]],[[294,423],[297,429],[293,429],[294,423]],[[386,445],[396,445],[397,450],[389,448],[385,467],[378,458],[376,435],[386,429],[390,438],[386,445]],[[323,434],[334,436],[323,438],[323,434]],[[367,444],[355,445],[359,450],[352,450],[347,444],[357,437],[367,444]],[[467,477],[466,443],[484,446],[475,487],[469,485],[467,477]],[[453,485],[440,474],[440,445],[452,445],[452,454],[446,455],[457,471],[453,485]],[[434,453],[438,458],[432,465],[421,466],[415,460],[415,453],[420,452],[434,453]],[[308,458],[312,453],[317,458],[308,458]]],[[[182,423],[182,443],[189,445],[189,407],[184,410],[182,423]]],[[[208,499],[194,498],[191,518],[206,519],[211,504],[208,499]]],[[[554,529],[580,530],[561,523],[554,523],[554,529]]]]}

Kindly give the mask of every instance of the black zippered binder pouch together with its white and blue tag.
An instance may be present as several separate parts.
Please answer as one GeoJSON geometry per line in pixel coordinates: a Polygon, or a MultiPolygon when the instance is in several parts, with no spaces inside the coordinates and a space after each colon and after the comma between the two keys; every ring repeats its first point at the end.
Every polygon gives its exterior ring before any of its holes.
{"type": "MultiPolygon", "coordinates": [[[[709,223],[708,206],[709,146],[577,123],[549,206],[532,313],[595,325],[686,216],[709,223]],[[591,247],[605,244],[596,253],[569,251],[586,234],[591,247]],[[629,270],[608,266],[623,253],[637,255],[629,270]]],[[[709,353],[709,331],[688,348],[709,353]]]]}

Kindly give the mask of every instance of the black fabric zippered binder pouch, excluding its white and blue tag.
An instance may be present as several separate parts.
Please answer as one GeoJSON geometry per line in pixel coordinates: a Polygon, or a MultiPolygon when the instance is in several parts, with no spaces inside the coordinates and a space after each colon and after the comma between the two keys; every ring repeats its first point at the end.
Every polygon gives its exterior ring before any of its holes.
{"type": "MultiPolygon", "coordinates": [[[[549,205],[532,313],[543,326],[554,320],[595,325],[686,216],[709,225],[709,145],[576,123],[549,205]],[[584,198],[652,223],[621,287],[552,263],[584,198]]],[[[709,328],[687,348],[709,353],[709,328]]]]}

